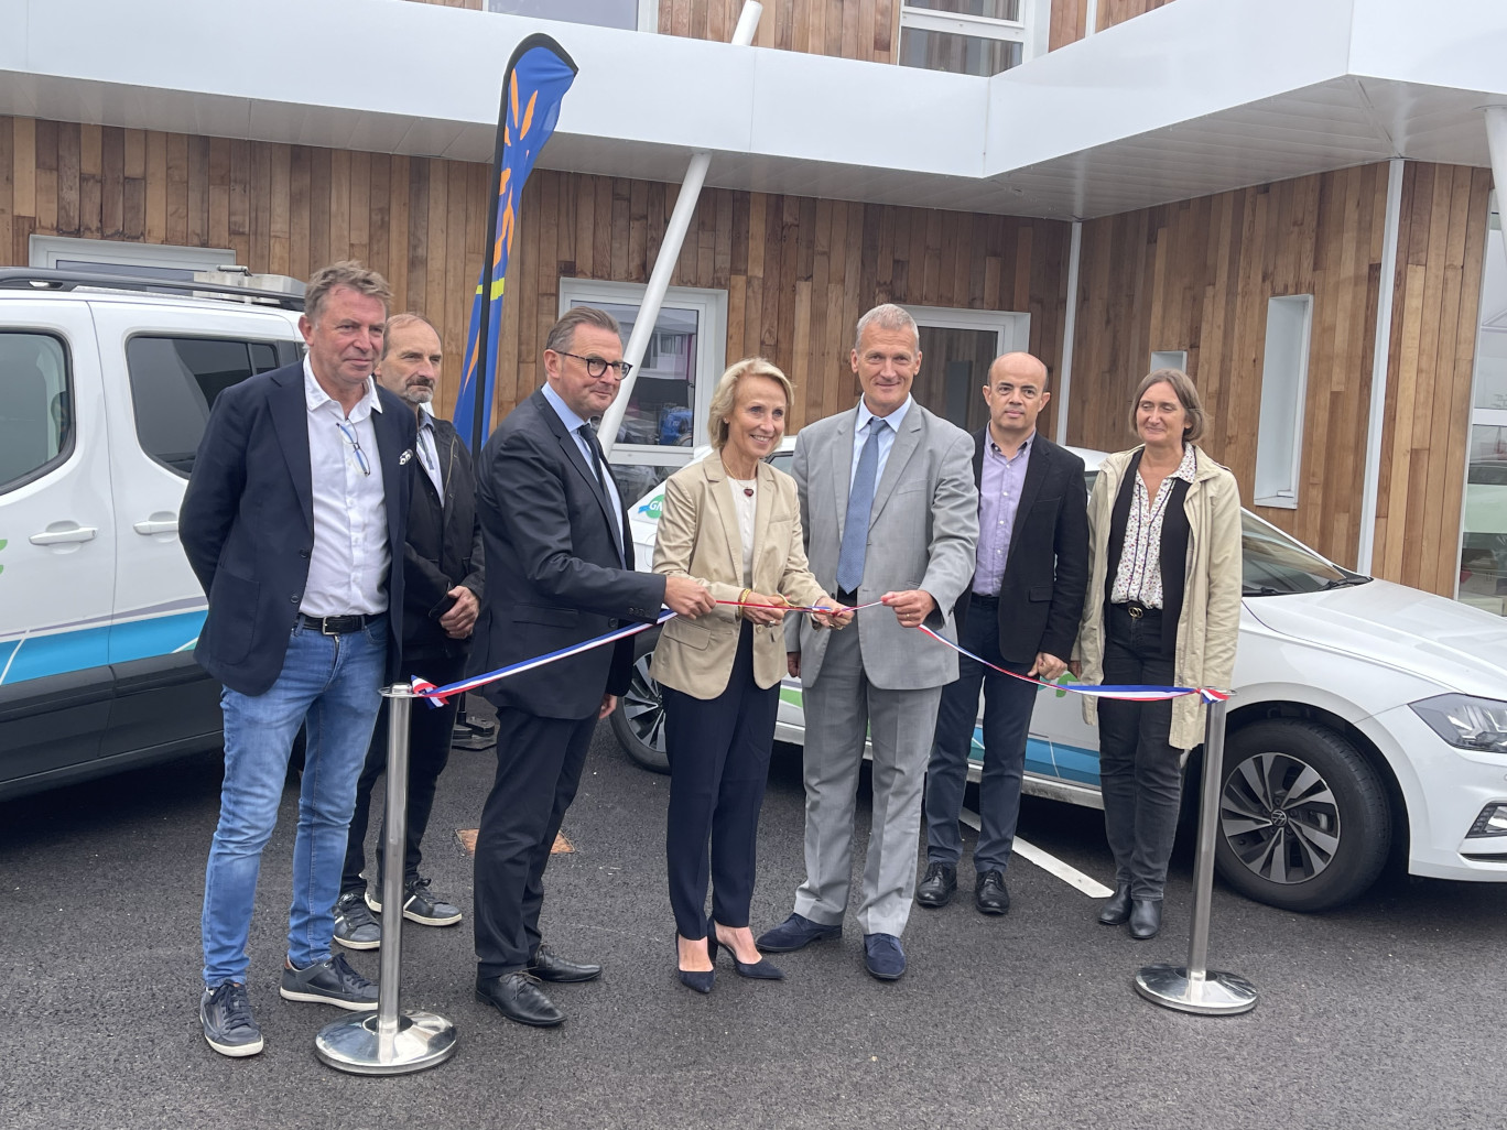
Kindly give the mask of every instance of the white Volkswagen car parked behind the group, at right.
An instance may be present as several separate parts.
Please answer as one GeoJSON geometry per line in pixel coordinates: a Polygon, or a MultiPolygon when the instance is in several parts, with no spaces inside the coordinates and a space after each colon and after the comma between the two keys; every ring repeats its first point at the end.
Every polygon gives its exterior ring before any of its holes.
{"type": "MultiPolygon", "coordinates": [[[[793,447],[787,437],[772,463],[788,470],[793,447]]],[[[1093,482],[1103,454],[1078,455],[1093,482]]],[[[640,570],[662,500],[654,488],[630,508],[640,570]]],[[[1365,890],[1395,844],[1415,875],[1507,881],[1507,622],[1350,573],[1251,512],[1243,538],[1224,878],[1261,902],[1323,910],[1365,890]]],[[[653,648],[643,633],[612,725],[634,759],[663,771],[653,648]]],[[[802,741],[799,681],[781,687],[776,737],[802,741]]],[[[974,750],[981,759],[978,729],[974,750]]],[[[1103,806],[1097,734],[1078,696],[1038,692],[1025,791],[1103,806]]]]}

